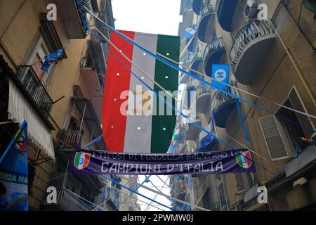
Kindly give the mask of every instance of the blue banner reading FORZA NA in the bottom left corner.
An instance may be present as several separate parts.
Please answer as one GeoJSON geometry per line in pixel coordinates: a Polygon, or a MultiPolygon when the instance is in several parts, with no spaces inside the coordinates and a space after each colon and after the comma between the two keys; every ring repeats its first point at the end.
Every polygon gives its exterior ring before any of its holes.
{"type": "Polygon", "coordinates": [[[0,211],[27,211],[27,122],[0,158],[0,211]]]}

